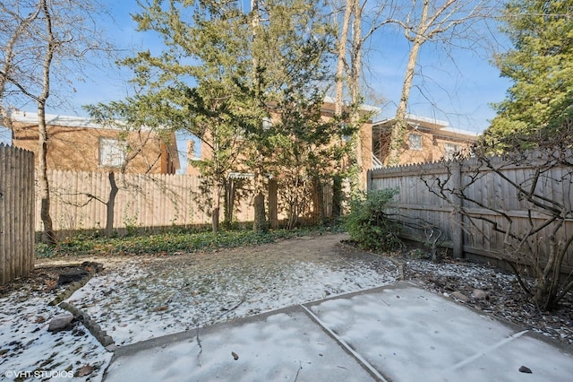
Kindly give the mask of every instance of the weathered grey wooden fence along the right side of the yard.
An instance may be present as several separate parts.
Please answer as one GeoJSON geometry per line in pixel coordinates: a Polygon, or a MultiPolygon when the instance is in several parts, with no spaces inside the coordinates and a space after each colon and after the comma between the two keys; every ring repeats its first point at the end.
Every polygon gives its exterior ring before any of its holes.
{"type": "MultiPolygon", "coordinates": [[[[492,161],[502,160],[494,158],[492,161]]],[[[509,185],[507,179],[526,184],[528,179],[533,178],[534,166],[535,164],[525,162],[522,165],[502,167],[503,177],[480,167],[475,158],[460,163],[436,162],[375,169],[368,174],[368,189],[398,188],[396,203],[390,205],[390,213],[396,213],[398,220],[407,225],[406,239],[428,243],[432,241],[430,238],[432,227],[437,227],[442,233],[441,246],[451,248],[454,256],[485,256],[500,259],[504,256],[504,240],[507,238],[493,230],[492,224],[487,221],[472,219],[473,224],[477,226],[470,224],[468,218],[459,213],[460,208],[463,207],[471,217],[482,216],[501,225],[507,224],[500,213],[494,213],[489,208],[480,208],[479,204],[493,207],[511,218],[512,230],[528,230],[530,219],[540,222],[548,216],[543,214],[543,211],[534,211],[531,205],[527,204],[526,198],[519,195],[515,187],[509,185]],[[483,176],[475,176],[480,173],[483,176]],[[507,179],[503,179],[504,177],[507,179]],[[465,187],[465,195],[479,204],[464,202],[456,195],[448,193],[445,195],[449,201],[444,200],[430,191],[430,188],[438,191],[440,183],[447,184],[449,189],[465,187]]],[[[572,211],[571,169],[552,168],[544,174],[543,181],[539,181],[534,187],[538,194],[559,201],[569,209],[569,212],[572,211]]],[[[543,235],[547,232],[548,230],[542,231],[539,240],[543,241],[543,235]]],[[[566,220],[565,227],[559,233],[562,237],[558,240],[566,240],[573,235],[573,221],[566,220]]],[[[563,272],[569,273],[573,270],[571,252],[569,248],[563,262],[563,272]]]]}

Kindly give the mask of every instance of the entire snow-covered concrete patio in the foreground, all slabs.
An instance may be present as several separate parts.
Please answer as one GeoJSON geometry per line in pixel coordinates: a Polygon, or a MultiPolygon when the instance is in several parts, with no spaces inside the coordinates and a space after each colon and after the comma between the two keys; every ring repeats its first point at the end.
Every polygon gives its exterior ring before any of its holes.
{"type": "Polygon", "coordinates": [[[400,282],[124,347],[107,382],[566,382],[572,360],[527,330],[400,282]]]}

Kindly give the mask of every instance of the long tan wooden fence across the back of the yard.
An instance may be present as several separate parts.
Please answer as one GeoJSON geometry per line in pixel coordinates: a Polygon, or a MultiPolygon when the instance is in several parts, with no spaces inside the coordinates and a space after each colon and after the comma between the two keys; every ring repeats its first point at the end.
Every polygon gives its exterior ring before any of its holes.
{"type": "MultiPolygon", "coordinates": [[[[66,233],[101,230],[107,221],[107,200],[111,189],[107,172],[48,171],[50,213],[54,230],[66,233]]],[[[119,192],[115,196],[114,229],[161,229],[210,225],[213,187],[201,184],[193,175],[115,174],[119,192]]],[[[253,197],[250,181],[235,192],[233,221],[253,220],[253,197]]],[[[331,214],[332,191],[324,189],[327,216],[331,214]]],[[[40,204],[36,205],[39,211],[40,204]]],[[[223,219],[221,205],[220,219],[223,219]]],[[[286,213],[278,206],[278,219],[286,213]]],[[[40,219],[36,230],[42,230],[40,219]]]]}

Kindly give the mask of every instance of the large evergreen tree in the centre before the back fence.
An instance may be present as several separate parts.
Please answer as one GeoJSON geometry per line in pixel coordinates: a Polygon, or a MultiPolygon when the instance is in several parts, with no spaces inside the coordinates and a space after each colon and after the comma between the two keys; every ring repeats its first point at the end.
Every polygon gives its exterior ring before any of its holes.
{"type": "Polygon", "coordinates": [[[255,217],[261,218],[254,228],[263,230],[264,176],[280,172],[271,157],[286,149],[279,137],[304,132],[285,124],[269,128],[270,121],[286,105],[305,99],[320,110],[322,98],[316,103],[315,96],[324,94],[331,79],[332,31],[323,8],[304,0],[252,0],[248,10],[241,1],[138,3],[141,11],[134,20],[139,29],[157,32],[165,48],[158,55],[144,51],[124,60],[140,94],[120,109],[185,129],[209,147],[210,158],[197,164],[216,189],[214,229],[228,172],[252,172],[255,217]],[[148,100],[147,107],[138,106],[146,103],[141,100],[148,100]]]}

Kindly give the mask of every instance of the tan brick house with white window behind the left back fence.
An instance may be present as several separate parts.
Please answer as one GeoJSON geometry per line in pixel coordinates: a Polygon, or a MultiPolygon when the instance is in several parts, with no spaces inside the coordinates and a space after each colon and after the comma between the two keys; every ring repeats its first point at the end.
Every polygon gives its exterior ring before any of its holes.
{"type": "MultiPolygon", "coordinates": [[[[13,146],[38,155],[38,115],[12,114],[13,146]]],[[[2,121],[0,121],[2,122],[2,121]]],[[[175,174],[175,133],[101,126],[90,118],[47,115],[47,169],[175,174]]]]}

